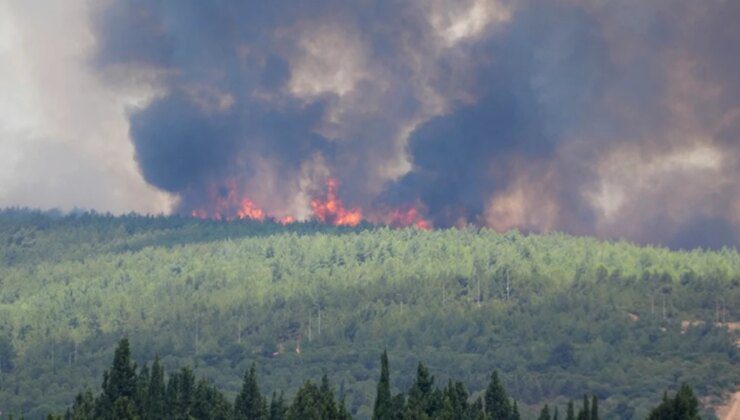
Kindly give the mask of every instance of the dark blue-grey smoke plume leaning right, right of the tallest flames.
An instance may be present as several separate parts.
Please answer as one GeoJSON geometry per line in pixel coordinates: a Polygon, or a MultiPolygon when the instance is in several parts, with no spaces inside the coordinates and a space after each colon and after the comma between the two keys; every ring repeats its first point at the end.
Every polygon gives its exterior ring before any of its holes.
{"type": "Polygon", "coordinates": [[[609,71],[604,41],[583,10],[546,5],[515,19],[469,52],[481,62],[475,103],[410,137],[414,168],[402,188],[419,194],[437,225],[480,222],[491,194],[509,185],[512,160],[547,162],[589,118],[609,71]]]}

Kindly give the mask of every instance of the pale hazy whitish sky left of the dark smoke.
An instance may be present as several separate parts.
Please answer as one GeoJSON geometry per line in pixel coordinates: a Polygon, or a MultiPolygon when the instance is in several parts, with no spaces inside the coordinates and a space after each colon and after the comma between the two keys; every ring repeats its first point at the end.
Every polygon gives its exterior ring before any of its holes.
{"type": "Polygon", "coordinates": [[[82,0],[0,1],[0,206],[168,211],[128,136],[127,110],[153,88],[101,80],[89,12],[82,0]]]}

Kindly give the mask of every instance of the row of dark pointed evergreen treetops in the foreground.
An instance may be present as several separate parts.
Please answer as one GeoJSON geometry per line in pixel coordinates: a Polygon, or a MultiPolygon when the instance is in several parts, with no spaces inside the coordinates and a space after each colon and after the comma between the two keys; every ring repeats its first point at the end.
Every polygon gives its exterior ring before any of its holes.
{"type": "MultiPolygon", "coordinates": [[[[517,402],[510,398],[496,371],[485,393],[471,401],[462,382],[448,381],[444,388],[434,383],[424,364],[419,363],[416,378],[407,393],[392,395],[388,354],[381,355],[380,379],[373,410],[373,420],[520,420],[517,402]]],[[[11,416],[12,418],[12,416],[11,416]]],[[[49,415],[49,420],[87,419],[209,419],[209,420],[346,420],[352,416],[337,397],[326,375],[316,384],[306,381],[292,401],[284,394],[273,392],[268,398],[260,391],[254,363],[245,372],[241,391],[229,399],[206,378],[195,379],[189,367],[172,373],[165,372],[155,358],[151,369],[138,368],[131,359],[128,339],[122,339],[115,351],[113,365],[103,374],[102,392],[94,396],[90,390],[80,392],[64,415],[49,415]]],[[[559,420],[558,408],[545,406],[538,420],[559,420]]],[[[571,400],[565,410],[565,420],[599,420],[598,399],[583,396],[576,412],[571,400]]],[[[655,407],[649,420],[694,420],[698,415],[698,400],[690,386],[683,385],[673,398],[667,393],[655,407]]]]}

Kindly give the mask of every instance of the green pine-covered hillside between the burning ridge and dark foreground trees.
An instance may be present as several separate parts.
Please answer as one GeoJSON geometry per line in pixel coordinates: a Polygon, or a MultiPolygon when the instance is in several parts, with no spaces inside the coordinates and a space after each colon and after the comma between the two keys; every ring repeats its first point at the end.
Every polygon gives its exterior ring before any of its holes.
{"type": "Polygon", "coordinates": [[[472,405],[498,372],[522,418],[564,418],[584,394],[601,418],[646,418],[683,383],[712,418],[740,377],[737,302],[732,249],[6,210],[0,410],[64,413],[125,336],[132,360],[159,355],[228,407],[245,372],[286,410],[326,395],[326,375],[338,413],[371,418],[387,349],[389,394],[409,399],[423,361],[472,405]]]}

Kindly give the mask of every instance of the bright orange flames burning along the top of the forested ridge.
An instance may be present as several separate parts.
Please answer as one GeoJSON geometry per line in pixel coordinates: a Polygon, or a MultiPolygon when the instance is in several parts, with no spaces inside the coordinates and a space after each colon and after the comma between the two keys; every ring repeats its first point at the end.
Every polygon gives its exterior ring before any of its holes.
{"type": "MultiPolygon", "coordinates": [[[[337,189],[339,181],[329,178],[326,181],[326,192],[311,200],[312,219],[333,226],[357,226],[363,220],[371,223],[384,224],[394,228],[417,227],[431,229],[431,224],[424,219],[416,207],[408,206],[391,210],[375,211],[363,216],[359,208],[348,209],[339,198],[337,189]]],[[[192,217],[213,220],[273,220],[280,224],[290,224],[298,221],[293,216],[275,216],[260,208],[254,201],[241,197],[236,181],[229,180],[219,188],[212,188],[209,192],[209,204],[206,207],[190,211],[192,217]]]]}

